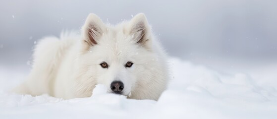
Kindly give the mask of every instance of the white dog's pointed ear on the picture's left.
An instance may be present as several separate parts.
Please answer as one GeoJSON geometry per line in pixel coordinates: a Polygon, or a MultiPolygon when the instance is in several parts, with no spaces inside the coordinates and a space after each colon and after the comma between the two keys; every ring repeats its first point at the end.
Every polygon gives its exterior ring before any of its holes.
{"type": "Polygon", "coordinates": [[[105,24],[96,14],[89,14],[84,26],[82,27],[82,35],[85,42],[89,45],[97,45],[98,39],[104,33],[105,24]]]}

